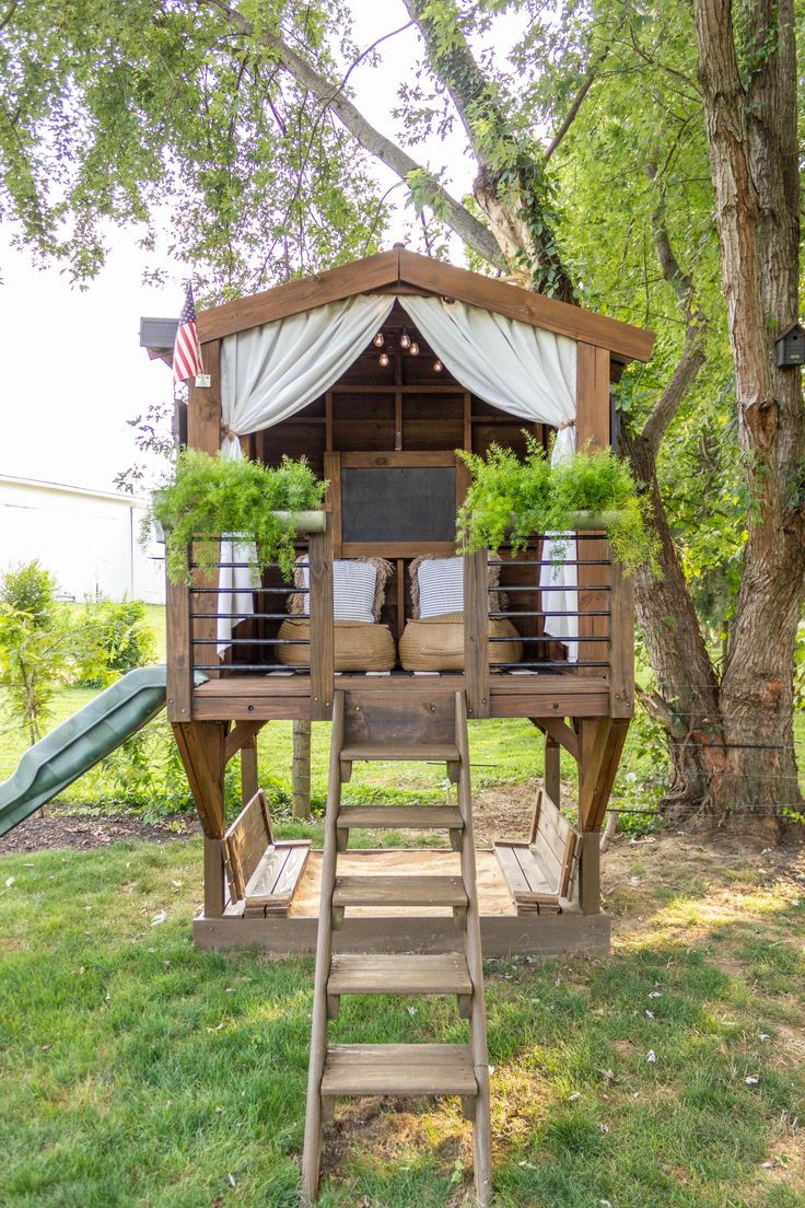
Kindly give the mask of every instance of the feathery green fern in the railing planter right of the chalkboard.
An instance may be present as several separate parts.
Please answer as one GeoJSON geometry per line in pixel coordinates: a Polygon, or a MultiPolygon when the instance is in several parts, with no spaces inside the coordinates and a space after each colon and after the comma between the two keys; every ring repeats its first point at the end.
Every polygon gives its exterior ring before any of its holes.
{"type": "Polygon", "coordinates": [[[637,567],[658,574],[651,503],[640,494],[628,463],[611,449],[583,449],[552,466],[531,435],[526,441],[525,461],[498,445],[485,458],[457,449],[472,475],[457,518],[465,552],[497,551],[504,544],[517,552],[535,533],[572,533],[597,519],[624,574],[637,567]]]}

